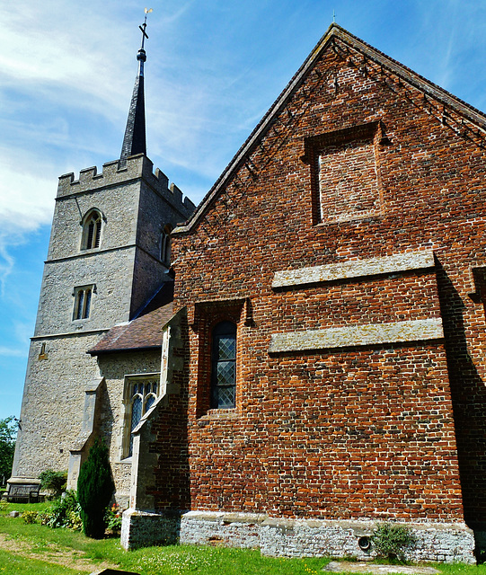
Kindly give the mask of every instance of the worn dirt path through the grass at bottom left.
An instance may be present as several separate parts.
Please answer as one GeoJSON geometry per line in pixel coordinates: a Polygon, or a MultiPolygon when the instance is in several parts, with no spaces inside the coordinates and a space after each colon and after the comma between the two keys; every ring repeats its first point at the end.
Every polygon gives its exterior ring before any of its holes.
{"type": "Polygon", "coordinates": [[[38,559],[40,561],[54,563],[62,567],[69,567],[78,571],[102,571],[103,569],[117,569],[117,565],[101,562],[94,563],[85,556],[83,551],[75,551],[60,547],[56,544],[45,544],[41,548],[22,541],[22,539],[12,539],[8,535],[0,533],[0,549],[15,553],[22,557],[38,559]]]}

